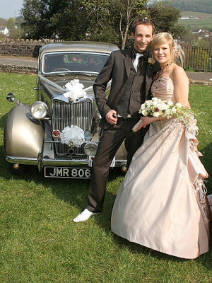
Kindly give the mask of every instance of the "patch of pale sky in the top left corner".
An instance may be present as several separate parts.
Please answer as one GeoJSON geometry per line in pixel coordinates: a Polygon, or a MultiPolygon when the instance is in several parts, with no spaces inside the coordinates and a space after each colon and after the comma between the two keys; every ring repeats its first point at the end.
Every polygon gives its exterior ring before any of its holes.
{"type": "Polygon", "coordinates": [[[23,0],[0,0],[0,18],[10,18],[20,16],[23,0]]]}

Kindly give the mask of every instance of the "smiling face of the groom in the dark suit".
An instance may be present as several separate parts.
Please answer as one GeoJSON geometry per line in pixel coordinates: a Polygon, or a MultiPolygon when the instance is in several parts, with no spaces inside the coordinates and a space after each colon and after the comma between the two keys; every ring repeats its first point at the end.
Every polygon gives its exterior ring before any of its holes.
{"type": "Polygon", "coordinates": [[[148,49],[153,39],[153,28],[151,25],[137,25],[135,34],[131,33],[134,39],[134,48],[137,52],[144,52],[148,49]]]}

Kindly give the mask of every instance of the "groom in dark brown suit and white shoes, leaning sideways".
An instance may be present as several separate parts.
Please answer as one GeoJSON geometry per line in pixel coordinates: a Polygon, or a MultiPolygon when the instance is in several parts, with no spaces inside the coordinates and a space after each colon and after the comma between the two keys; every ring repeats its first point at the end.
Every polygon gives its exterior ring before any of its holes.
{"type": "Polygon", "coordinates": [[[157,67],[148,64],[148,57],[151,57],[148,47],[154,30],[148,18],[137,18],[131,31],[134,47],[112,52],[93,85],[102,116],[102,134],[93,161],[88,205],[73,219],[74,222],[86,221],[102,211],[110,164],[122,142],[126,146],[127,166],[143,142],[147,129],[135,134],[131,134],[131,129],[140,119],[138,111],[141,104],[151,99],[151,84],[158,71],[157,67]],[[106,98],[105,90],[111,79],[110,94],[106,98]]]}

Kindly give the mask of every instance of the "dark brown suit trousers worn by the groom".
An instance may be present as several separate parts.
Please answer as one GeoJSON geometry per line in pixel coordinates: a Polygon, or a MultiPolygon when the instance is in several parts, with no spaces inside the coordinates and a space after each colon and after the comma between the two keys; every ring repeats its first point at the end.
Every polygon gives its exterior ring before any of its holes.
{"type": "Polygon", "coordinates": [[[102,211],[110,164],[122,142],[125,140],[127,166],[129,166],[136,150],[141,146],[147,128],[133,133],[132,128],[136,125],[136,122],[138,120],[119,117],[116,125],[110,125],[103,130],[98,150],[93,160],[92,178],[88,191],[88,206],[86,208],[90,212],[102,211]]]}

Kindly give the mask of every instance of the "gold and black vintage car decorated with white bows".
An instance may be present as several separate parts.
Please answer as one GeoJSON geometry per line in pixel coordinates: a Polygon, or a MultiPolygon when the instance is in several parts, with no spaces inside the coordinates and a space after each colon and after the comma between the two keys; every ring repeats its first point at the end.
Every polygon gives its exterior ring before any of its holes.
{"type": "MultiPolygon", "coordinates": [[[[101,131],[93,83],[113,50],[118,47],[100,42],[55,42],[40,49],[35,103],[7,95],[16,102],[4,130],[13,173],[37,166],[49,178],[90,178],[101,131]]],[[[125,166],[122,144],[111,167],[125,166]]]]}

